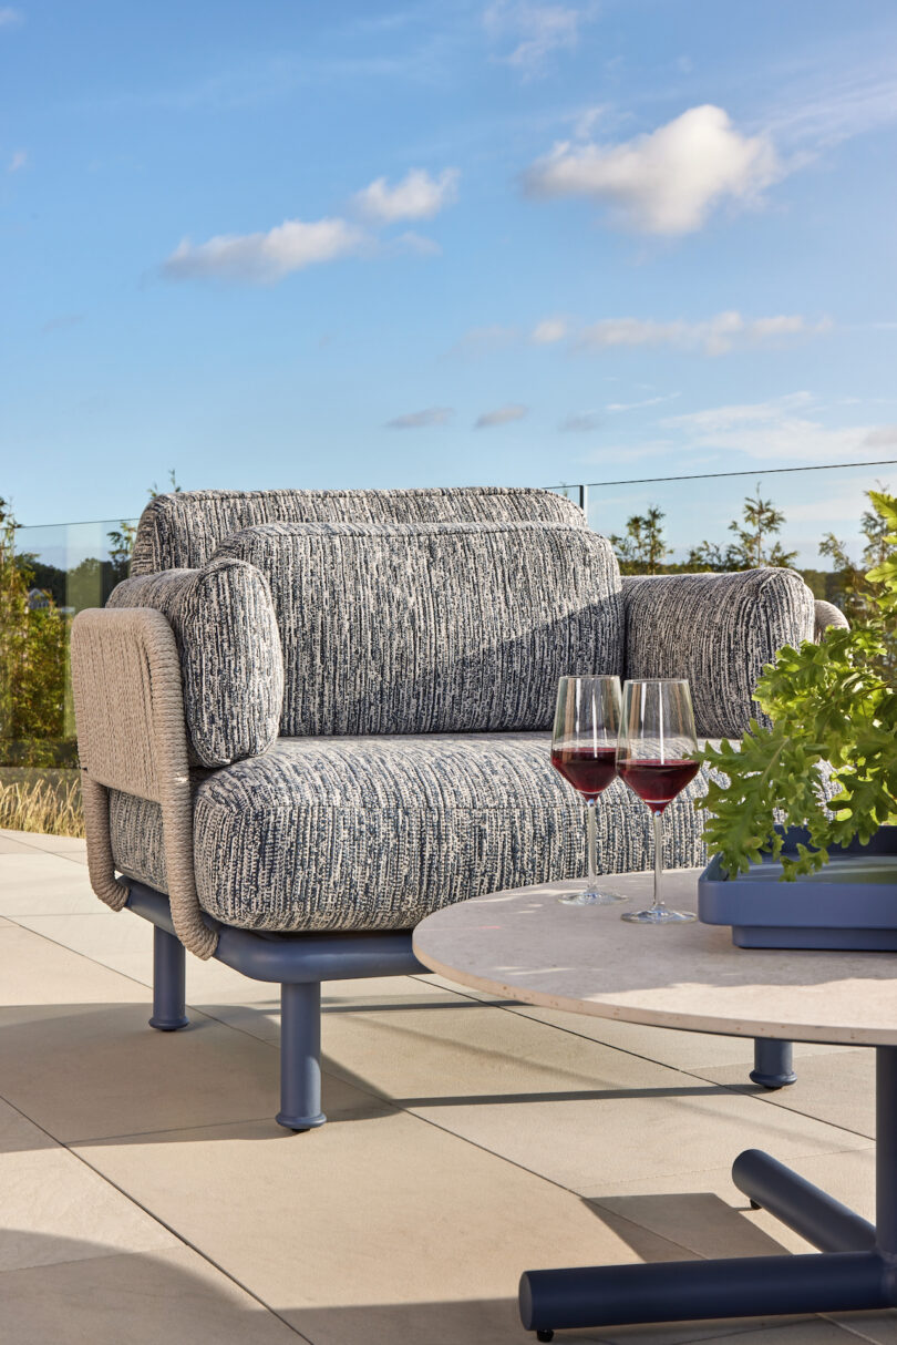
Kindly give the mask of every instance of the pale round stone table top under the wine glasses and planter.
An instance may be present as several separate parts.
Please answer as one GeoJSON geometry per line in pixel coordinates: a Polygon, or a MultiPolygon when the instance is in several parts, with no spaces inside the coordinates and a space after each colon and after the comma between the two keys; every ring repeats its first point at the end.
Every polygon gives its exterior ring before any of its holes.
{"type": "MultiPolygon", "coordinates": [[[[698,869],[664,876],[695,911],[698,869]]],[[[651,876],[602,885],[650,904],[651,876]]],[[[451,981],[598,1018],[734,1037],[897,1045],[897,954],[736,948],[728,927],[633,925],[620,905],[566,907],[577,882],[498,892],[428,916],[414,952],[451,981]]]]}

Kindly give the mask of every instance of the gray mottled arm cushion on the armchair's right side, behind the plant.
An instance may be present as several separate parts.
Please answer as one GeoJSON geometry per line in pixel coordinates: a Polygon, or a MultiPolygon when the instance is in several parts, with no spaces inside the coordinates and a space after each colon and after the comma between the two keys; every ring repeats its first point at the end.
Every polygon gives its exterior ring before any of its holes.
{"type": "Polygon", "coordinates": [[[814,596],[793,570],[628,574],[625,677],[689,678],[699,734],[741,737],[753,691],[783,644],[814,635],[814,596]]]}

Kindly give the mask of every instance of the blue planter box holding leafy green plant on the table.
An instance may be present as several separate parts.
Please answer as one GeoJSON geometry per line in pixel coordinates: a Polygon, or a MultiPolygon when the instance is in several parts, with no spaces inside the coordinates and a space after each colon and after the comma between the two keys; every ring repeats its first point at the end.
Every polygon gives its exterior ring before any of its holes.
{"type": "MultiPolygon", "coordinates": [[[[802,827],[785,834],[784,854],[810,843],[802,827]]],[[[831,851],[822,873],[780,882],[781,863],[765,858],[725,878],[714,855],[698,880],[698,917],[732,925],[740,948],[897,951],[897,827],[880,827],[869,845],[831,851]]]]}

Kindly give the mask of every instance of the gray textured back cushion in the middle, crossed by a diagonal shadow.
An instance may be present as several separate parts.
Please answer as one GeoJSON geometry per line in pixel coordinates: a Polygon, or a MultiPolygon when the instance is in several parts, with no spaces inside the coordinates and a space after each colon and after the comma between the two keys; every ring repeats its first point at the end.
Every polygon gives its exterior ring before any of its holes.
{"type": "Polygon", "coordinates": [[[270,584],[281,732],[542,729],[558,678],[619,674],[609,542],[562,523],[269,523],[217,555],[270,584]]]}

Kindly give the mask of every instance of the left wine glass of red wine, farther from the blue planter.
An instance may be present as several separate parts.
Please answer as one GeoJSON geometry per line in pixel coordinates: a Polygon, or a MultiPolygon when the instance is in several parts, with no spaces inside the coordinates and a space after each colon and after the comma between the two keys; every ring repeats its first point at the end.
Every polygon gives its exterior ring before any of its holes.
{"type": "Polygon", "coordinates": [[[551,765],[582,795],[588,808],[588,865],[585,888],[558,897],[565,905],[605,907],[625,901],[598,890],[596,873],[594,806],[617,773],[620,732],[619,677],[562,677],[554,712],[551,765]]]}

